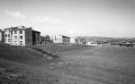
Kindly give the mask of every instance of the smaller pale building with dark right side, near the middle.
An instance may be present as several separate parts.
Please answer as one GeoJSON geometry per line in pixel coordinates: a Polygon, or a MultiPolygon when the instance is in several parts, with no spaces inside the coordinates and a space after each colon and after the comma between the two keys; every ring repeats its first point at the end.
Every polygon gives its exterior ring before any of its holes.
{"type": "Polygon", "coordinates": [[[65,35],[55,35],[55,36],[52,36],[51,39],[54,43],[63,43],[63,44],[70,43],[70,37],[65,36],[65,35]]]}

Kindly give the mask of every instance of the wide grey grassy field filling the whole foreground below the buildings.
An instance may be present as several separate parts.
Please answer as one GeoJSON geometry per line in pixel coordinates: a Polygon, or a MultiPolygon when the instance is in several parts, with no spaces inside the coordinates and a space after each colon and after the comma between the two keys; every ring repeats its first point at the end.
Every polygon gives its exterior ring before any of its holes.
{"type": "Polygon", "coordinates": [[[135,48],[62,48],[54,58],[41,48],[0,45],[0,83],[135,84],[135,48]]]}

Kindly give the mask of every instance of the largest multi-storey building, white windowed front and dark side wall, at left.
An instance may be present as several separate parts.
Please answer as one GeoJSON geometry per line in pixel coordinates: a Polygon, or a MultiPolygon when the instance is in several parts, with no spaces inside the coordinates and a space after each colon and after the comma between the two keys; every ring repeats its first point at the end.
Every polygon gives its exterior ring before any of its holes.
{"type": "Polygon", "coordinates": [[[35,45],[40,42],[40,32],[25,26],[5,28],[4,42],[16,46],[35,45]]]}

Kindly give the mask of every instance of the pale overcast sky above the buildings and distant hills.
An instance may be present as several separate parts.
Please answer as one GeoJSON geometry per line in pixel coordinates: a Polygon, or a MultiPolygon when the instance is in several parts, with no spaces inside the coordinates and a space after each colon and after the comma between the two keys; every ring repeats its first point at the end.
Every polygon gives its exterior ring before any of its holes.
{"type": "Polygon", "coordinates": [[[135,0],[0,0],[0,28],[42,35],[135,37],[135,0]]]}

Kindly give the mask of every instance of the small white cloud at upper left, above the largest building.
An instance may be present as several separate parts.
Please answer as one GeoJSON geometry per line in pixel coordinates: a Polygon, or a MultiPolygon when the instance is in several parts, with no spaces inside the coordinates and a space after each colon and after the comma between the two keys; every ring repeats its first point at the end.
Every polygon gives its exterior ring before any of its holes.
{"type": "Polygon", "coordinates": [[[26,16],[22,14],[20,11],[9,11],[6,10],[5,13],[11,17],[17,18],[17,19],[25,19],[26,16]]]}

